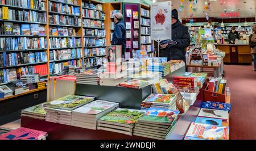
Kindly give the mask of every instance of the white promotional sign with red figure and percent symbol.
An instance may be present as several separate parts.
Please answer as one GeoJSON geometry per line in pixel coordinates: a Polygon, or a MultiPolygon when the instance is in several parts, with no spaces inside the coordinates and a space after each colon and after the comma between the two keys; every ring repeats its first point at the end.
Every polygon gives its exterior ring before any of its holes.
{"type": "Polygon", "coordinates": [[[171,39],[172,35],[172,3],[159,2],[151,5],[151,39],[171,39]]]}

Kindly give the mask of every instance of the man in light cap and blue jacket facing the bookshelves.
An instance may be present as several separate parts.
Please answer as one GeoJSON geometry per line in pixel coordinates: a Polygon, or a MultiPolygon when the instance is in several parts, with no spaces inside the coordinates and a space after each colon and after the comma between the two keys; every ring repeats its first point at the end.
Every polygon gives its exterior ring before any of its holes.
{"type": "Polygon", "coordinates": [[[122,57],[125,56],[126,49],[126,28],[122,22],[123,15],[117,12],[114,15],[115,29],[112,36],[112,45],[122,45],[122,57]]]}

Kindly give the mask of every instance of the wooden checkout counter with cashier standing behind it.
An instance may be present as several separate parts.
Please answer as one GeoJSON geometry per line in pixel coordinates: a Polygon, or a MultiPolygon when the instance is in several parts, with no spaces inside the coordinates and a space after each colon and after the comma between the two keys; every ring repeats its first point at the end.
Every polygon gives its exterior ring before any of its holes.
{"type": "Polygon", "coordinates": [[[216,48],[224,51],[226,56],[225,64],[246,64],[251,65],[251,49],[248,44],[215,44],[216,48]]]}

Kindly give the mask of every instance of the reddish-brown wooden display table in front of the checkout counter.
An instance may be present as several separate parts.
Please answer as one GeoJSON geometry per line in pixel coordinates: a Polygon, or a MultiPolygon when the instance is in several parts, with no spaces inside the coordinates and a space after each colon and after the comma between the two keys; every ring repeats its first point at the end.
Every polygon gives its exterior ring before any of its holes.
{"type": "Polygon", "coordinates": [[[197,68],[213,69],[214,78],[221,77],[221,75],[224,74],[224,62],[223,61],[221,61],[220,65],[218,65],[218,66],[187,65],[187,67],[190,68],[190,72],[197,72],[197,68]]]}

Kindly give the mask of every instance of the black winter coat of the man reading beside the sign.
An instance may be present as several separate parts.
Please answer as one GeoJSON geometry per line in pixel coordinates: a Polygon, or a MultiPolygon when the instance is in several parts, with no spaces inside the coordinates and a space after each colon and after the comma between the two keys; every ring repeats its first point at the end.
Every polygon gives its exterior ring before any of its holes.
{"type": "Polygon", "coordinates": [[[166,48],[160,51],[163,57],[167,57],[168,60],[183,60],[185,62],[185,48],[191,43],[191,38],[188,32],[188,27],[180,23],[179,20],[172,25],[172,40],[176,41],[176,45],[168,45],[166,48]]]}

